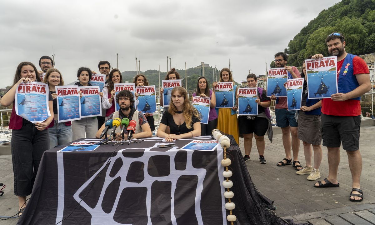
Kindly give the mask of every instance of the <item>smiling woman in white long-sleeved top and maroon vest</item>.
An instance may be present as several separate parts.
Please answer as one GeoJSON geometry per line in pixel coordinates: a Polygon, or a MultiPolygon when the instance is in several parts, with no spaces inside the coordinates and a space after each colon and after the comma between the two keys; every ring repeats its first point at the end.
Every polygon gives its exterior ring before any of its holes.
{"type": "Polygon", "coordinates": [[[103,97],[102,97],[102,108],[107,110],[105,117],[107,118],[115,111],[115,90],[113,84],[122,83],[122,75],[119,69],[111,70],[108,75],[108,86],[103,88],[103,97]]]}

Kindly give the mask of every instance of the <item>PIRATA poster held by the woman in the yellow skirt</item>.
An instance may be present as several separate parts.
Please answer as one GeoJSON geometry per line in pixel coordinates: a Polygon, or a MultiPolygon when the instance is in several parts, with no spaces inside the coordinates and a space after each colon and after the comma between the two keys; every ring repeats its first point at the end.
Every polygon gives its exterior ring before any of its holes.
{"type": "Polygon", "coordinates": [[[233,82],[219,82],[215,88],[216,108],[232,108],[234,106],[233,82]]]}

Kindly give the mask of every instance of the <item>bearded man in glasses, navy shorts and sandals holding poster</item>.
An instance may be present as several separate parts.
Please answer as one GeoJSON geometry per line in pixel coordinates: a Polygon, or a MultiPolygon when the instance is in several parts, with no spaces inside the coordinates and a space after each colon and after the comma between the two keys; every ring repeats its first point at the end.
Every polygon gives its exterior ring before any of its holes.
{"type": "MultiPolygon", "coordinates": [[[[301,78],[300,72],[295,66],[287,66],[288,55],[284,52],[278,52],[275,55],[275,65],[277,68],[284,68],[288,71],[288,80],[293,78],[301,78]]],[[[284,84],[282,84],[284,85],[284,84]]],[[[292,164],[292,157],[290,154],[290,148],[293,150],[293,167],[296,170],[301,170],[302,166],[298,161],[298,151],[300,148],[300,140],[297,135],[297,121],[294,118],[294,111],[288,111],[287,97],[278,97],[275,95],[271,96],[272,100],[276,99],[275,114],[276,114],[276,124],[281,127],[282,130],[282,143],[285,150],[285,158],[280,161],[278,166],[285,166],[292,164]],[[290,139],[290,134],[292,139],[290,139]]]]}

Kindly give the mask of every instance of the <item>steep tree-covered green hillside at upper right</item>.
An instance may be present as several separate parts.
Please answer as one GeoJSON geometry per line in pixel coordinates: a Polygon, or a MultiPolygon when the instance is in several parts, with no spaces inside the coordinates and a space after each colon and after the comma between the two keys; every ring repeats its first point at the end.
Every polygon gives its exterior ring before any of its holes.
{"type": "Polygon", "coordinates": [[[345,36],[347,52],[356,55],[375,52],[375,0],[342,0],[321,11],[289,42],[285,49],[288,64],[301,66],[310,55],[328,55],[324,40],[333,32],[345,36]]]}

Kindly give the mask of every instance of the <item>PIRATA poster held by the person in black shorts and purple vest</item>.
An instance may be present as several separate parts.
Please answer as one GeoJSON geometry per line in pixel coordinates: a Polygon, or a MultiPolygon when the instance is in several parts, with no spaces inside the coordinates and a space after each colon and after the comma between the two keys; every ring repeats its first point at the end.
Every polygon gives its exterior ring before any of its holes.
{"type": "Polygon", "coordinates": [[[258,115],[257,87],[241,87],[238,89],[239,115],[258,115]]]}

